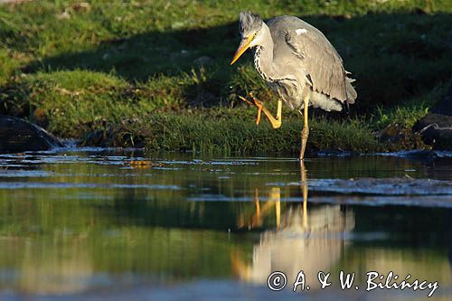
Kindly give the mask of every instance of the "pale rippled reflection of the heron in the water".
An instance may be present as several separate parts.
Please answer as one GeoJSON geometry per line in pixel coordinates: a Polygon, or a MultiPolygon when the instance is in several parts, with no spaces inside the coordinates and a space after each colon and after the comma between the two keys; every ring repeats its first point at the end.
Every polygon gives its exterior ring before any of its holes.
{"type": "Polygon", "coordinates": [[[354,229],[353,212],[344,210],[341,205],[324,205],[308,210],[303,163],[300,174],[303,200],[286,206],[284,212],[281,212],[279,187],[270,189],[265,203],[259,201],[259,190],[256,189],[255,212],[248,220],[241,217],[239,226],[261,227],[265,218],[275,214],[276,229],[266,230],[260,235],[250,264],[241,259],[240,251],[231,253],[232,268],[241,279],[264,284],[268,275],[276,270],[284,272],[287,279],[296,279],[300,270],[304,271],[306,279],[316,279],[318,271],[331,269],[341,258],[348,245],[345,234],[354,229]]]}

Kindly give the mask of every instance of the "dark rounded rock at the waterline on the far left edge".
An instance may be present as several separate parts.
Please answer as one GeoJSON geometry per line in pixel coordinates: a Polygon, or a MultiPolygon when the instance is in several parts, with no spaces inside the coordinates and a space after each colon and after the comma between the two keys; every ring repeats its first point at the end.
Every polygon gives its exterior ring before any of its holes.
{"type": "Polygon", "coordinates": [[[61,141],[24,119],[0,115],[0,153],[49,150],[61,141]]]}

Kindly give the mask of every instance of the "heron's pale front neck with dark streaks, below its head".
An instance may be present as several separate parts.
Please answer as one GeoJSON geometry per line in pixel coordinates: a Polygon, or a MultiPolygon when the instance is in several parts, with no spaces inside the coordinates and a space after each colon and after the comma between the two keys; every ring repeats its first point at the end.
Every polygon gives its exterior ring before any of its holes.
{"type": "Polygon", "coordinates": [[[267,24],[262,27],[262,42],[254,49],[254,67],[264,80],[273,80],[273,39],[267,24]]]}

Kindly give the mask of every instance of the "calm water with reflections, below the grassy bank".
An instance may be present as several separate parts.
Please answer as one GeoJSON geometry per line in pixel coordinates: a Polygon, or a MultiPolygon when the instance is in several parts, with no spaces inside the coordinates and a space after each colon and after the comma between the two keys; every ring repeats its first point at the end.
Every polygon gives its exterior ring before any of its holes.
{"type": "Polygon", "coordinates": [[[431,291],[366,292],[369,271],[438,281],[430,299],[449,300],[451,168],[447,153],[324,155],[305,166],[96,148],[0,155],[0,300],[423,300],[431,291]],[[310,289],[294,293],[300,270],[310,289]],[[287,277],[279,292],[267,287],[274,271],[287,277]],[[330,287],[320,289],[319,271],[330,287]],[[351,289],[340,271],[356,273],[351,289]]]}

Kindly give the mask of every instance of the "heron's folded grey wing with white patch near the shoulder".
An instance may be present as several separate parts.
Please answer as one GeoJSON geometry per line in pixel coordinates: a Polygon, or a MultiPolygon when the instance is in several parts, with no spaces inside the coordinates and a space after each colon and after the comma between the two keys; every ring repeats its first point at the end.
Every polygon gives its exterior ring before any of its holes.
{"type": "Polygon", "coordinates": [[[347,100],[346,72],[339,53],[314,26],[294,19],[287,19],[286,24],[278,26],[279,42],[283,42],[284,35],[284,42],[290,52],[301,60],[300,67],[306,72],[315,91],[344,102],[347,100]],[[282,27],[284,31],[281,31],[282,27]]]}

